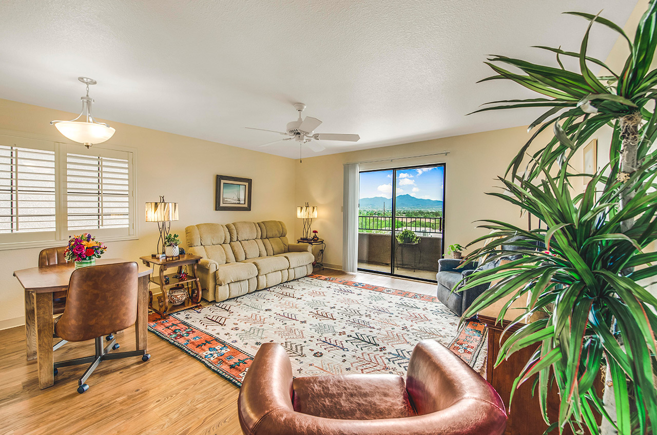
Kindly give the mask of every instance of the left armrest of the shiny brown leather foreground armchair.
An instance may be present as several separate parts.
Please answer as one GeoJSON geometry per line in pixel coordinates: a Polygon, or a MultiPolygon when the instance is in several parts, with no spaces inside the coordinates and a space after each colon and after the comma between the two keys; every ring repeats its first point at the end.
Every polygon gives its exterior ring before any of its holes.
{"type": "Polygon", "coordinates": [[[277,343],[260,346],[244,375],[237,410],[245,434],[255,433],[263,417],[272,411],[294,411],[292,365],[283,346],[277,343]]]}

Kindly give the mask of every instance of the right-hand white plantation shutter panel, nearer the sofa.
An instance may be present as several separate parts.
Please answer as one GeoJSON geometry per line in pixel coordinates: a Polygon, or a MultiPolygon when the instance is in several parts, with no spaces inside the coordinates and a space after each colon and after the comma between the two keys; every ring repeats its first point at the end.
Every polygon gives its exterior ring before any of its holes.
{"type": "Polygon", "coordinates": [[[131,234],[131,173],[131,152],[71,150],[69,146],[66,152],[68,234],[131,234]]]}

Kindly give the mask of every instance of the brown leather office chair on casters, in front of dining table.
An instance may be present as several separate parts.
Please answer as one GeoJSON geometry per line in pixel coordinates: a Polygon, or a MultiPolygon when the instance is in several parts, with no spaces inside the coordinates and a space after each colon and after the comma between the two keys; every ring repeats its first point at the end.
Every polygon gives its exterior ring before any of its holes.
{"type": "Polygon", "coordinates": [[[91,363],[78,380],[78,393],[89,389],[87,378],[101,361],[141,356],[148,361],[145,350],[108,353],[119,344],[112,338],[103,347],[102,338],[112,331],[120,331],[133,325],[137,319],[137,263],[126,262],[81,267],[71,274],[68,284],[64,313],[55,319],[55,335],[64,340],[79,342],[95,340],[95,355],[59,361],[53,365],[55,375],[58,367],[91,363]]]}

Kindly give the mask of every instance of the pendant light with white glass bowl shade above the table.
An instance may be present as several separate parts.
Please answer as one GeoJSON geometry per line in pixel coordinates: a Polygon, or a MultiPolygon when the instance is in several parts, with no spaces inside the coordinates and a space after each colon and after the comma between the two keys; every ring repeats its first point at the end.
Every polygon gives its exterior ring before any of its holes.
{"type": "Polygon", "coordinates": [[[87,95],[80,97],[82,100],[82,112],[78,118],[71,121],[51,121],[62,135],[68,137],[74,142],[83,143],[89,148],[95,143],[102,143],[114,135],[114,128],[109,127],[102,122],[96,122],[91,116],[91,103],[93,98],[89,97],[89,85],[95,85],[97,81],[87,78],[78,77],[78,80],[87,85],[87,95]],[[82,120],[78,121],[80,118],[82,120]]]}

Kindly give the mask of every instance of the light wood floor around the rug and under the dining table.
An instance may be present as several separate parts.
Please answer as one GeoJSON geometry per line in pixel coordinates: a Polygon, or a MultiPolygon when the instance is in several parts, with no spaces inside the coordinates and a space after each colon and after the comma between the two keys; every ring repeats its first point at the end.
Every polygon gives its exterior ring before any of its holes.
{"type": "MultiPolygon", "coordinates": [[[[341,279],[434,295],[430,283],[372,273],[315,271],[341,279]]],[[[122,350],[135,334],[117,334],[122,350]]],[[[93,341],[68,343],[55,360],[93,355],[93,341]]],[[[85,366],[62,367],[55,385],[39,390],[37,365],[26,361],[23,327],[0,331],[0,434],[221,434],[241,433],[238,388],[181,350],[148,334],[150,361],[102,361],[78,394],[85,366]]]]}

